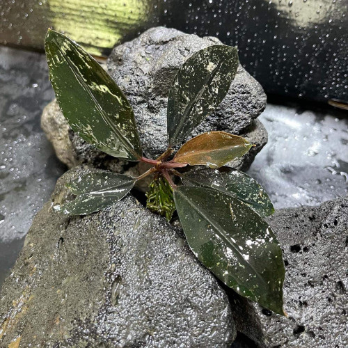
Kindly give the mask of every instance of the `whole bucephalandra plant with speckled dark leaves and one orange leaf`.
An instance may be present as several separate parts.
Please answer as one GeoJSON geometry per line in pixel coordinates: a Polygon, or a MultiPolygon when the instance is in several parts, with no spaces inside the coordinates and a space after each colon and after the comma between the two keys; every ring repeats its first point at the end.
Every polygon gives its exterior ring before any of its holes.
{"type": "Polygon", "coordinates": [[[58,104],[74,132],[113,157],[152,165],[139,177],[109,171],[80,176],[67,184],[74,198],[55,209],[97,212],[153,174],[148,208],[168,220],[176,209],[191,250],[207,269],[242,296],[283,315],[282,251],[262,219],[274,208],[260,184],[224,166],[252,145],[241,136],[207,132],[173,156],[173,147],[228,93],[239,64],[237,48],[213,45],[182,65],[168,95],[168,150],[157,159],[143,157],[132,107],[97,61],[56,31],[48,31],[45,48],[58,104]]]}

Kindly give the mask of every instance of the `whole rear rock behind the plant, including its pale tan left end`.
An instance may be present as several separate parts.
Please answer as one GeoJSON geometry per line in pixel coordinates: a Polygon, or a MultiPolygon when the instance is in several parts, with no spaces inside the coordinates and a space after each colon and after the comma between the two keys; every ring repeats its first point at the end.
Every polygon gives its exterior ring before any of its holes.
{"type": "MultiPolygon", "coordinates": [[[[146,155],[157,157],[166,150],[168,91],[177,70],[189,56],[210,45],[221,45],[221,42],[212,37],[199,38],[175,29],[158,27],[113,49],[107,63],[108,71],[133,106],[146,155]]],[[[225,100],[191,136],[209,130],[245,135],[257,146],[242,161],[233,165],[236,168],[246,168],[267,143],[267,131],[260,122],[254,122],[265,105],[266,95],[262,87],[239,65],[225,100]]],[[[65,164],[71,167],[77,162],[95,166],[97,162],[97,166],[102,164],[104,168],[111,170],[118,166],[117,160],[102,155],[100,151],[81,141],[72,131],[69,137],[65,131],[64,141],[61,141],[61,132],[57,128],[61,127],[61,120],[62,116],[56,104],[49,104],[42,115],[42,128],[54,144],[57,154],[64,152],[65,148],[72,148],[72,152],[67,152],[65,157],[58,155],[65,164]],[[55,122],[57,127],[50,127],[55,122]]],[[[66,127],[68,125],[65,123],[62,128],[66,127]]]]}

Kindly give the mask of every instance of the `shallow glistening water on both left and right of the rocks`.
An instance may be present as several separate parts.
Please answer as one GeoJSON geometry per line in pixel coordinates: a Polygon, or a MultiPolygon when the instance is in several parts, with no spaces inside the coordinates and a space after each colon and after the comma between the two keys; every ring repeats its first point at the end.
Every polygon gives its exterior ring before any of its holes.
{"type": "MultiPolygon", "coordinates": [[[[65,171],[40,129],[42,109],[53,98],[44,55],[0,47],[0,284],[65,171]]],[[[281,103],[272,100],[260,116],[269,143],[248,173],[276,208],[346,195],[347,113],[281,103]]]]}

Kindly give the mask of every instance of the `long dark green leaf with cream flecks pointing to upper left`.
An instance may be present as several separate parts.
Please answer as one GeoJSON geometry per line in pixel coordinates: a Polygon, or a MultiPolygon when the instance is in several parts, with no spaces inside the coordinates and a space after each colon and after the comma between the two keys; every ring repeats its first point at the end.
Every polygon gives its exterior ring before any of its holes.
{"type": "Polygon", "coordinates": [[[132,107],[109,74],[56,31],[47,32],[45,49],[58,104],[72,129],[111,156],[138,160],[142,151],[132,107]]]}

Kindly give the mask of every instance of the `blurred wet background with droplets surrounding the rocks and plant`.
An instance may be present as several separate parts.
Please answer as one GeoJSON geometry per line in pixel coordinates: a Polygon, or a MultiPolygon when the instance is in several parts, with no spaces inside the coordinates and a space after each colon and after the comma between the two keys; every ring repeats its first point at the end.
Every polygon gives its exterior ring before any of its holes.
{"type": "Polygon", "coordinates": [[[347,0],[1,0],[0,283],[65,171],[40,129],[54,99],[47,28],[102,60],[159,25],[238,46],[269,101],[259,118],[269,142],[248,173],[276,208],[347,194],[347,0]]]}

